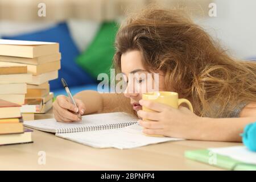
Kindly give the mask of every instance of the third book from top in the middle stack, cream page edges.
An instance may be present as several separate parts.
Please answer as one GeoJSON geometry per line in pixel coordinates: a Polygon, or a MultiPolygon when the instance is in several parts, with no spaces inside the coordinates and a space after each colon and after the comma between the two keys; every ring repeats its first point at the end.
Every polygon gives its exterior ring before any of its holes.
{"type": "Polygon", "coordinates": [[[27,84],[0,84],[0,94],[26,94],[27,84]]]}

